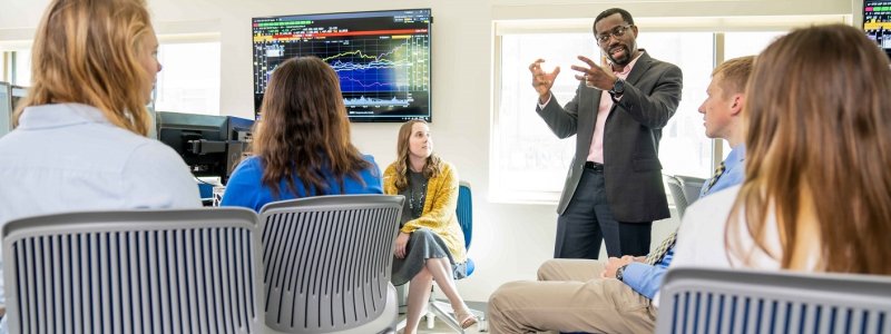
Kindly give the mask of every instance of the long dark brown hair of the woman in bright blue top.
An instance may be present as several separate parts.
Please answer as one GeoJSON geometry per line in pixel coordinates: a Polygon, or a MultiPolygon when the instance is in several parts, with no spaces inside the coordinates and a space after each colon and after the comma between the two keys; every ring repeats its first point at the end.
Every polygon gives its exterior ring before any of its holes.
{"type": "Polygon", "coordinates": [[[298,57],[273,71],[261,107],[253,143],[263,161],[263,184],[280,196],[282,180],[297,194],[295,177],[306,194],[329,195],[327,173],[343,191],[350,176],[370,168],[350,141],[350,121],[341,96],[337,73],[316,57],[298,57]]]}

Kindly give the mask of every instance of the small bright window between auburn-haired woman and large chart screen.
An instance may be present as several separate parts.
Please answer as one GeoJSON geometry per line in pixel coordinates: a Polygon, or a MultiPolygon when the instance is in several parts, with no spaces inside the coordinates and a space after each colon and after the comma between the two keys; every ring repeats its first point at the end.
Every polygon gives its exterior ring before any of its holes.
{"type": "Polygon", "coordinates": [[[161,43],[155,110],[219,115],[219,42],[161,43]]]}

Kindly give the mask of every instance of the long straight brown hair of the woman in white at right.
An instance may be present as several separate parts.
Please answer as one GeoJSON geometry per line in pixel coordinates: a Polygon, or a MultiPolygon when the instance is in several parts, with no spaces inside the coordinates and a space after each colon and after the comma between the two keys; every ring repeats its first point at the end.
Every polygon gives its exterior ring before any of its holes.
{"type": "Polygon", "coordinates": [[[747,233],[783,268],[807,269],[793,259],[810,244],[813,269],[891,274],[887,56],[852,27],[799,29],[757,57],[746,91],[746,180],[728,218],[741,226],[744,210],[746,226],[727,229],[730,254],[751,254],[747,233]]]}

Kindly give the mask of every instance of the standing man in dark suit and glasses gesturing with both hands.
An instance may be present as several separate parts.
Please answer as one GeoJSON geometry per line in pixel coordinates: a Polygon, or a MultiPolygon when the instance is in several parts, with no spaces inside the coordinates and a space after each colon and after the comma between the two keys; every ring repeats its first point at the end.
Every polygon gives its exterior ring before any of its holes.
{"type": "Polygon", "coordinates": [[[609,256],[645,255],[653,220],[669,216],[658,153],[681,101],[681,69],[637,48],[637,27],[623,9],[598,14],[594,37],[600,66],[578,57],[587,66],[572,66],[581,82],[565,107],[550,92],[559,67],[546,72],[544,59],[529,66],[536,111],[557,137],[577,135],[557,207],[556,258],[596,259],[601,238],[609,256]]]}

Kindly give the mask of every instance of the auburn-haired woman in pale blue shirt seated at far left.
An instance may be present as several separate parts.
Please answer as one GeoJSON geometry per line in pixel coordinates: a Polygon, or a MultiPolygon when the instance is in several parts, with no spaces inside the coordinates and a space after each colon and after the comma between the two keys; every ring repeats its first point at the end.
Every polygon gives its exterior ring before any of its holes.
{"type": "Polygon", "coordinates": [[[157,49],[145,1],[49,1],[31,50],[32,86],[16,129],[0,138],[0,225],[202,206],[183,159],[146,138],[157,49]]]}

